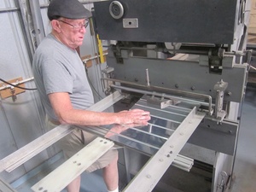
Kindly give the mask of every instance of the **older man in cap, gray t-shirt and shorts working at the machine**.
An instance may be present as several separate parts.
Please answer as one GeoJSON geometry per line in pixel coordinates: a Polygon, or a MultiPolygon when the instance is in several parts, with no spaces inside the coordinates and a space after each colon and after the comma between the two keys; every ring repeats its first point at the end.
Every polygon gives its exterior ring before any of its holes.
{"type": "MultiPolygon", "coordinates": [[[[76,48],[83,44],[91,13],[77,0],[51,0],[48,17],[52,32],[39,44],[33,58],[33,73],[49,124],[69,125],[147,125],[149,113],[135,109],[119,113],[87,111],[93,103],[84,66],[76,48]]],[[[76,129],[61,140],[67,158],[84,147],[86,133],[76,129]]],[[[118,154],[109,150],[88,172],[103,168],[108,191],[118,191],[118,154]]],[[[68,174],[68,172],[67,172],[68,174]]],[[[78,192],[80,177],[68,184],[68,192],[78,192]]]]}

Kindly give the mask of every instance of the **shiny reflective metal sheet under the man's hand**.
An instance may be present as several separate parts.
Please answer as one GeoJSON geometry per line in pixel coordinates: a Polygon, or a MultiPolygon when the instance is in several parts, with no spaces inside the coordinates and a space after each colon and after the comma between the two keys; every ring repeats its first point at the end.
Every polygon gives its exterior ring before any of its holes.
{"type": "Polygon", "coordinates": [[[105,137],[145,154],[155,154],[194,107],[178,103],[161,108],[160,103],[140,99],[131,109],[149,111],[148,125],[113,125],[105,137]]]}

